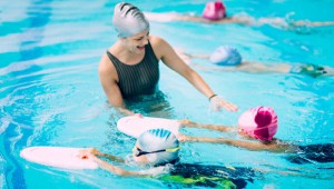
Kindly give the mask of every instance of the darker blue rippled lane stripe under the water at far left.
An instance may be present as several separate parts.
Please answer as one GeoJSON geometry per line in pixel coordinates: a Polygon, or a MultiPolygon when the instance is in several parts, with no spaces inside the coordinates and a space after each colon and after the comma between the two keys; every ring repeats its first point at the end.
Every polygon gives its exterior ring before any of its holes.
{"type": "MultiPolygon", "coordinates": [[[[32,1],[27,8],[27,19],[23,22],[29,22],[29,26],[19,34],[19,57],[11,57],[13,62],[10,62],[11,59],[7,60],[8,62],[18,64],[20,61],[35,60],[43,56],[43,51],[38,44],[43,39],[43,27],[48,23],[51,16],[52,9],[49,7],[50,3],[51,1],[32,1]]],[[[10,118],[12,118],[1,135],[4,150],[3,156],[7,162],[4,176],[9,188],[26,188],[23,171],[16,156],[13,156],[13,151],[17,152],[26,147],[27,141],[32,136],[33,129],[31,126],[35,125],[33,117],[38,113],[35,99],[40,93],[45,93],[45,84],[39,83],[42,76],[19,78],[22,74],[31,74],[40,70],[40,67],[31,62],[31,66],[24,69],[23,72],[8,72],[7,76],[14,80],[4,83],[11,86],[1,87],[7,88],[7,90],[1,92],[1,97],[6,96],[9,100],[1,106],[2,111],[10,113],[10,118]]],[[[4,119],[1,122],[8,121],[6,120],[8,116],[4,115],[1,117],[1,119],[4,119]]],[[[1,127],[3,126],[1,125],[1,127]]]]}

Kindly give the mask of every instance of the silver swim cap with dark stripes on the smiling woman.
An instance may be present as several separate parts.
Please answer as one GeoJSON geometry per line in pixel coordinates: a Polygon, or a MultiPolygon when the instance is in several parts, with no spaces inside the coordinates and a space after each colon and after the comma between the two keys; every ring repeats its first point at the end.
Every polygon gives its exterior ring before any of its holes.
{"type": "Polygon", "coordinates": [[[137,7],[127,2],[115,6],[112,24],[118,32],[118,37],[121,38],[149,31],[149,22],[144,13],[137,7]]]}

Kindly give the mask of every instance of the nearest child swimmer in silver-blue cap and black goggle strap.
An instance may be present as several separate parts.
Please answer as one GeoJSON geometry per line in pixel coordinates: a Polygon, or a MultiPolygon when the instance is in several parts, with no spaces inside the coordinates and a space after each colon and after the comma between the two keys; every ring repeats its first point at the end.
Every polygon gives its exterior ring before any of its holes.
{"type": "Polygon", "coordinates": [[[165,129],[150,129],[143,132],[132,149],[132,155],[122,159],[120,157],[104,153],[95,148],[81,150],[79,157],[91,159],[100,168],[122,177],[157,178],[167,183],[180,183],[187,187],[209,188],[245,188],[247,182],[261,179],[265,172],[279,175],[303,176],[314,178],[305,172],[291,170],[272,170],[244,167],[224,167],[200,163],[180,162],[180,142],[177,137],[165,129]],[[106,160],[105,160],[106,159],[106,160]],[[148,168],[146,170],[131,171],[124,169],[124,165],[115,166],[108,160],[118,165],[130,163],[148,168]]]}

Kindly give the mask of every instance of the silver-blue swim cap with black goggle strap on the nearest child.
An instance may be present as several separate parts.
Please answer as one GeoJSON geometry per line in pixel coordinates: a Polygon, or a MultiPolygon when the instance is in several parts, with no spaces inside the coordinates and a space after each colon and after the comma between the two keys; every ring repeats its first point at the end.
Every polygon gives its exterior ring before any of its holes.
{"type": "Polygon", "coordinates": [[[165,129],[150,129],[141,133],[137,143],[143,151],[158,151],[163,152],[146,155],[150,165],[164,165],[178,159],[179,141],[176,136],[165,129]]]}

